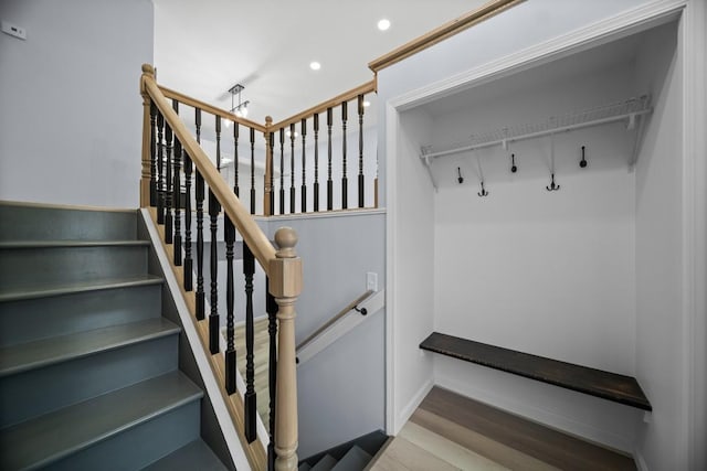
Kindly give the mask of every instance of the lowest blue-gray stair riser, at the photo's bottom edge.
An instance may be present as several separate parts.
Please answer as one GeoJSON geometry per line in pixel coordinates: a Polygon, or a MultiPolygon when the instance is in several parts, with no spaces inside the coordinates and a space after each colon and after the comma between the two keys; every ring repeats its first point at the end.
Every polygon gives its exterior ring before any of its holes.
{"type": "Polygon", "coordinates": [[[117,471],[145,468],[199,438],[199,407],[198,400],[191,402],[43,469],[117,471]]]}

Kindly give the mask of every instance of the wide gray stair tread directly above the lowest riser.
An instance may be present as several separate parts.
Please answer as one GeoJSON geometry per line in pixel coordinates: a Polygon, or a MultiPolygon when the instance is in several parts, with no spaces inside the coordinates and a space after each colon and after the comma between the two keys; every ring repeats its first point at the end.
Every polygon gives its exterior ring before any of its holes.
{"type": "Polygon", "coordinates": [[[175,371],[0,430],[2,469],[43,467],[203,393],[175,371]]]}

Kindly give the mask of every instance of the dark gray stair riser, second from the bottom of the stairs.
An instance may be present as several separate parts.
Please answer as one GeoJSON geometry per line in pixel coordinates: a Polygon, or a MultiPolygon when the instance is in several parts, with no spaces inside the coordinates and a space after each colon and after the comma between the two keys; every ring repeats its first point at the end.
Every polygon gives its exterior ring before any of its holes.
{"type": "Polygon", "coordinates": [[[0,428],[177,368],[179,336],[155,339],[0,379],[0,428]]]}

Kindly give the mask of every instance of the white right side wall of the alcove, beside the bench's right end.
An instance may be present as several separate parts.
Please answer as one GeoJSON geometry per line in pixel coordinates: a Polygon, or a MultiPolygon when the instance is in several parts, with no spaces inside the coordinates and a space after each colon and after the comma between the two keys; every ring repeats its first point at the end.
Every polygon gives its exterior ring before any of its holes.
{"type": "MultiPolygon", "coordinates": [[[[645,44],[636,82],[657,98],[636,167],[636,377],[653,404],[648,469],[687,469],[683,416],[683,64],[675,29],[645,44]]],[[[704,287],[703,287],[704,288],[704,287]]]]}

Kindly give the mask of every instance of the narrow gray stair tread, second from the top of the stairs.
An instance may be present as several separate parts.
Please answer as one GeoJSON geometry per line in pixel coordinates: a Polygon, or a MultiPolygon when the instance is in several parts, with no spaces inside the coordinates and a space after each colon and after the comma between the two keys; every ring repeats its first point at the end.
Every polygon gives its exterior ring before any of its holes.
{"type": "Polygon", "coordinates": [[[44,283],[42,286],[17,287],[2,292],[0,287],[0,302],[20,301],[23,299],[48,298],[52,296],[73,295],[77,292],[96,291],[102,289],[129,288],[133,286],[157,285],[162,278],[154,275],[134,276],[129,278],[98,279],[92,281],[76,281],[71,283],[44,283]]]}

